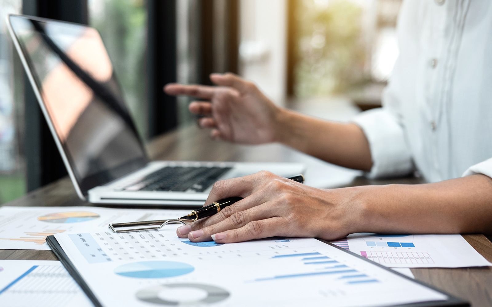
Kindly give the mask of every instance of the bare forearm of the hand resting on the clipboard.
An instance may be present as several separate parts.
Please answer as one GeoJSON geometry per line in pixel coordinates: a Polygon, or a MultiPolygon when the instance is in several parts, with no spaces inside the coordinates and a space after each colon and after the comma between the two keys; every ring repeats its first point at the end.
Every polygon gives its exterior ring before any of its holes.
{"type": "Polygon", "coordinates": [[[423,185],[358,187],[355,232],[492,233],[492,179],[472,175],[423,185]]]}

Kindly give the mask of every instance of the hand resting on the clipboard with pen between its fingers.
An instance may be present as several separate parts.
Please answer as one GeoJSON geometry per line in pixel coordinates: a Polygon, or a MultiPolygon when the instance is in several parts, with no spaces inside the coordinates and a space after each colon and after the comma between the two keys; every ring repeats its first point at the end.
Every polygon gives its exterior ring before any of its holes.
{"type": "Polygon", "coordinates": [[[179,227],[177,234],[192,242],[217,243],[272,236],[335,240],[356,232],[363,220],[354,201],[357,193],[351,191],[316,189],[268,171],[217,181],[206,204],[230,196],[244,199],[179,227]]]}

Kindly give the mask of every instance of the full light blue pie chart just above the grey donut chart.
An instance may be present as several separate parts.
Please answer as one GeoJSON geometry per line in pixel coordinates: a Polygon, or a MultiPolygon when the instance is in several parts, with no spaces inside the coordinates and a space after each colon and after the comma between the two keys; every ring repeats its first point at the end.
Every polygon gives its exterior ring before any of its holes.
{"type": "Polygon", "coordinates": [[[120,265],[115,273],[133,278],[167,278],[188,274],[195,270],[189,264],[177,261],[141,261],[120,265]]]}

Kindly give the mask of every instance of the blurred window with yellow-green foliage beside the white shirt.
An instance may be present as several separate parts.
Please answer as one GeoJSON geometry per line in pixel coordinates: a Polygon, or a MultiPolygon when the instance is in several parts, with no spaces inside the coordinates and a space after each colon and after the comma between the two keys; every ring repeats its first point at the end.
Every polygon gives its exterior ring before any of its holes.
{"type": "Polygon", "coordinates": [[[401,0],[289,4],[294,96],[342,94],[358,105],[379,100],[398,56],[395,28],[401,0]]]}

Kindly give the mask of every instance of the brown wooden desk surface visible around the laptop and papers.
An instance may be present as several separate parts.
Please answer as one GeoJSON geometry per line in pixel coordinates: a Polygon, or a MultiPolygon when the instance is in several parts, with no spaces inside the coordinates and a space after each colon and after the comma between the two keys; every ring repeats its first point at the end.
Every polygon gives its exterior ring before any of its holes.
{"type": "MultiPolygon", "coordinates": [[[[195,161],[259,161],[304,162],[307,184],[318,187],[346,187],[368,184],[423,183],[410,177],[396,180],[368,180],[360,172],[328,165],[279,144],[260,146],[233,145],[212,141],[208,133],[187,127],[154,140],[148,146],[151,157],[159,160],[195,161]],[[332,178],[330,178],[330,176],[332,178]],[[326,179],[328,177],[328,179],[326,179]],[[336,177],[336,178],[334,178],[336,177]]],[[[9,206],[79,206],[89,205],[80,200],[68,178],[40,188],[9,206]]],[[[466,241],[492,261],[492,244],[481,234],[464,235],[466,241]]],[[[0,250],[0,259],[57,260],[52,251],[0,250]]],[[[492,306],[492,268],[411,269],[416,279],[472,302],[476,306],[492,306]]]]}

